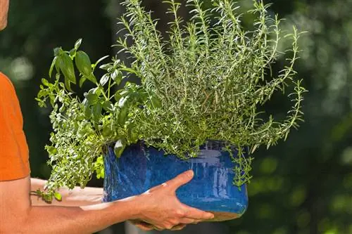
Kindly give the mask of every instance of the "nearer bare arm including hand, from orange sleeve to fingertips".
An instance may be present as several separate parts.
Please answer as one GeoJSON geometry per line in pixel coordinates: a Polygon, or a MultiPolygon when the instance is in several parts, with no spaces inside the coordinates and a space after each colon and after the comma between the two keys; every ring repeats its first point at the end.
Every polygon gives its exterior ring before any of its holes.
{"type": "Polygon", "coordinates": [[[213,218],[180,203],[175,190],[190,174],[157,186],[146,193],[111,203],[77,207],[32,206],[30,178],[0,182],[0,233],[94,233],[113,223],[142,220],[159,229],[213,218]]]}

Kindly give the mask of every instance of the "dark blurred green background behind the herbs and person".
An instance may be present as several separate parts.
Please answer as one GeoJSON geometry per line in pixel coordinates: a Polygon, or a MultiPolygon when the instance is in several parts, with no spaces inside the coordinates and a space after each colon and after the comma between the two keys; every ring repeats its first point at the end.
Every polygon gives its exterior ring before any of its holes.
{"type": "MultiPolygon", "coordinates": [[[[239,0],[251,4],[251,0],[239,0]]],[[[287,141],[253,155],[249,209],[241,219],[187,227],[183,233],[219,234],[348,234],[352,233],[352,0],[277,0],[272,14],[308,31],[296,65],[309,90],[303,111],[306,122],[287,141]]],[[[161,19],[161,0],[144,5],[161,19]]],[[[187,9],[183,9],[187,17],[187,9]]],[[[44,145],[49,141],[49,111],[34,97],[47,77],[53,48],[82,48],[92,60],[114,55],[111,47],[122,13],[116,0],[11,0],[8,28],[0,33],[0,70],[15,84],[30,146],[32,176],[48,178],[44,145]]],[[[289,28],[288,28],[289,29],[289,28]]],[[[268,112],[284,115],[284,98],[276,97],[268,112]]],[[[101,186],[92,181],[91,186],[101,186]]],[[[51,221],[48,219],[48,221],[51,221]]],[[[53,220],[54,221],[54,220],[53,220]]],[[[120,223],[101,233],[136,233],[120,223]]],[[[181,233],[181,232],[179,232],[181,233]]]]}

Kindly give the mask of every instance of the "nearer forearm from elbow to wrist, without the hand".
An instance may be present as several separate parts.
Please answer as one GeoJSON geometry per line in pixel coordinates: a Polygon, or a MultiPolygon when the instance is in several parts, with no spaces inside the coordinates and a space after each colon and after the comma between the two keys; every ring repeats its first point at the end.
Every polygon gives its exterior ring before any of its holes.
{"type": "Polygon", "coordinates": [[[133,197],[129,200],[82,207],[34,206],[26,212],[26,217],[5,220],[9,231],[4,230],[4,234],[94,233],[114,223],[136,219],[137,208],[133,197]]]}

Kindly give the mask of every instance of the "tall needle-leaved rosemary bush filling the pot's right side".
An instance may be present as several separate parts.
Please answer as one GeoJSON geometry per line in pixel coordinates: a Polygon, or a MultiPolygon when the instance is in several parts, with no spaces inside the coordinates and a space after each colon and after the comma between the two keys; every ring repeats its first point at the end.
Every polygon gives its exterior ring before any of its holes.
{"type": "MultiPolygon", "coordinates": [[[[306,91],[295,80],[300,36],[296,28],[283,34],[281,20],[270,15],[270,5],[263,1],[253,1],[246,12],[253,19],[251,30],[247,30],[238,2],[213,1],[206,9],[203,1],[189,0],[191,20],[184,30],[178,14],[180,4],[165,2],[173,18],[169,41],[158,33],[156,21],[140,1],[125,1],[127,11],[120,21],[126,38],[134,41],[118,40],[121,52],[134,58],[131,67],[121,70],[137,74],[147,93],[149,104],[137,126],[146,143],[185,157],[196,155],[198,146],[209,138],[239,148],[249,146],[250,153],[260,145],[270,148],[286,139],[303,120],[306,91]],[[278,51],[281,39],[290,39],[291,49],[278,51]],[[287,64],[274,74],[272,64],[282,56],[287,64]],[[258,110],[274,93],[287,89],[293,94],[289,95],[292,108],[286,119],[278,122],[270,113],[258,110]]],[[[116,100],[123,98],[121,94],[116,100]]],[[[134,99],[133,93],[128,96],[134,99]]],[[[234,162],[238,165],[234,183],[239,186],[251,178],[251,159],[239,156],[234,162]]]]}

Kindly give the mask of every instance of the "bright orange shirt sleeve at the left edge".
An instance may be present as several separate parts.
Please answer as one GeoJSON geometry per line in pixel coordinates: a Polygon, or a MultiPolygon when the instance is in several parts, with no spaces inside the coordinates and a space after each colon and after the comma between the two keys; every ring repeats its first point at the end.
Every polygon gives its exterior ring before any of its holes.
{"type": "Polygon", "coordinates": [[[28,157],[20,103],[10,80],[0,72],[0,181],[28,176],[28,157]]]}

